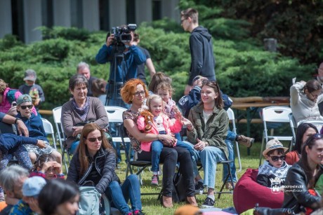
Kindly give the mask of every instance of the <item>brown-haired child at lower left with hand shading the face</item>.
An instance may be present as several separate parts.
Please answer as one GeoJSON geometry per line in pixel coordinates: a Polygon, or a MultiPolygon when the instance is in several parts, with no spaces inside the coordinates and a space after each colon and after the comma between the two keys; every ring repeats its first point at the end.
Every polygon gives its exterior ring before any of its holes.
{"type": "Polygon", "coordinates": [[[55,161],[53,155],[46,154],[37,158],[29,176],[41,176],[48,180],[65,179],[65,175],[62,174],[62,165],[55,161]]]}

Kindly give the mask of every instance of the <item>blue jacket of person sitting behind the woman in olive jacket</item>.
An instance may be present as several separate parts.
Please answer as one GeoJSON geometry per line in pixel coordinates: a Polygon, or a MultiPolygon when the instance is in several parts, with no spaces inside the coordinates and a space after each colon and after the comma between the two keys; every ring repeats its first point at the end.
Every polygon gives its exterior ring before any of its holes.
{"type": "MultiPolygon", "coordinates": [[[[224,103],[223,109],[225,111],[228,111],[230,106],[232,105],[232,100],[228,95],[223,94],[222,91],[220,91],[224,103]]],[[[192,109],[193,106],[199,104],[201,101],[201,88],[199,86],[195,86],[192,88],[192,90],[188,93],[188,95],[185,95],[180,98],[178,101],[178,106],[182,110],[183,115],[187,118],[188,114],[190,113],[190,109],[192,109]]]]}

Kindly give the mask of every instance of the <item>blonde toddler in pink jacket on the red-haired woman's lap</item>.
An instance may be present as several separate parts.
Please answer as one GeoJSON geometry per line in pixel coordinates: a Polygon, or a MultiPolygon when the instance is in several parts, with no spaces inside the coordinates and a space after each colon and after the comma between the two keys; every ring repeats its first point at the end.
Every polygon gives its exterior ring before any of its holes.
{"type": "MultiPolygon", "coordinates": [[[[147,118],[145,116],[138,117],[137,125],[138,129],[143,132],[148,132],[152,134],[171,134],[179,132],[183,124],[184,125],[192,125],[190,120],[183,118],[181,114],[178,114],[176,119],[171,120],[166,114],[164,113],[164,102],[159,95],[150,95],[147,98],[147,106],[152,113],[152,121],[147,122],[147,118]]],[[[187,148],[188,151],[192,148],[188,144],[183,143],[182,141],[176,141],[173,146],[169,147],[184,147],[187,148]]],[[[162,152],[162,148],[164,145],[162,141],[152,141],[152,142],[142,142],[141,149],[143,151],[152,151],[152,185],[158,185],[158,171],[159,171],[159,160],[160,160],[160,153],[162,152]]],[[[190,151],[192,155],[192,151],[190,151]]]]}

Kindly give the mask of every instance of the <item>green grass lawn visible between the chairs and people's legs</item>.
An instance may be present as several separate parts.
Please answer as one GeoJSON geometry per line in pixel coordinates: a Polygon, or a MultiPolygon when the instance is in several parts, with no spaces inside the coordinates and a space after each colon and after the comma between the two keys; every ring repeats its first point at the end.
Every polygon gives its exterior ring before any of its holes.
{"type": "MultiPolygon", "coordinates": [[[[286,144],[287,146],[287,144],[286,144]]],[[[242,171],[237,173],[238,179],[246,172],[246,169],[258,168],[259,164],[259,154],[261,150],[261,143],[254,143],[251,148],[251,155],[247,155],[246,153],[246,147],[241,146],[240,147],[240,153],[242,158],[242,171]]],[[[121,181],[124,181],[126,176],[126,163],[125,163],[125,156],[124,153],[121,153],[122,155],[122,161],[119,164],[119,168],[116,169],[117,175],[121,179],[121,181]]],[[[237,171],[239,170],[239,164],[237,158],[235,159],[235,164],[237,167],[237,171]]],[[[222,165],[218,165],[217,171],[216,171],[216,190],[220,190],[220,186],[222,186],[222,165]]],[[[203,176],[203,172],[200,171],[201,175],[203,176]]],[[[141,186],[141,193],[158,193],[162,186],[153,187],[150,186],[150,179],[152,176],[152,172],[150,172],[148,169],[145,170],[142,174],[143,176],[143,186],[141,186]]],[[[161,181],[161,179],[159,179],[161,181]]],[[[204,199],[206,198],[206,195],[197,195],[197,203],[201,205],[204,202],[204,199]]],[[[157,195],[142,195],[141,200],[143,202],[143,211],[145,214],[173,214],[173,212],[180,206],[182,206],[183,203],[180,204],[174,204],[174,207],[171,209],[166,209],[162,207],[159,200],[157,200],[157,195]]],[[[233,207],[233,200],[232,200],[232,194],[222,194],[220,197],[220,200],[217,199],[216,195],[216,207],[219,208],[226,208],[226,207],[233,207]]]]}

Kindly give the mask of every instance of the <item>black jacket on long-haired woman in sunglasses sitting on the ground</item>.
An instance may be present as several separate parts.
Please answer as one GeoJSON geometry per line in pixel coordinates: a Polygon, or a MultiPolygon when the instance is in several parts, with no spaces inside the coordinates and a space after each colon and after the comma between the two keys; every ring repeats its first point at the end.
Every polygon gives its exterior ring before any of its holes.
{"type": "MultiPolygon", "coordinates": [[[[91,159],[90,159],[91,160],[91,159]]],[[[68,168],[67,181],[74,181],[79,186],[84,182],[91,169],[95,167],[101,176],[101,179],[95,188],[98,193],[104,193],[111,181],[119,181],[119,177],[114,171],[116,167],[116,157],[112,150],[100,148],[100,151],[95,154],[94,161],[90,163],[88,169],[83,175],[80,175],[81,163],[79,162],[79,152],[73,156],[70,167],[68,168]]]]}

